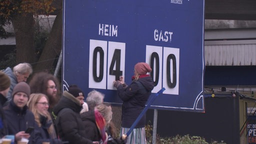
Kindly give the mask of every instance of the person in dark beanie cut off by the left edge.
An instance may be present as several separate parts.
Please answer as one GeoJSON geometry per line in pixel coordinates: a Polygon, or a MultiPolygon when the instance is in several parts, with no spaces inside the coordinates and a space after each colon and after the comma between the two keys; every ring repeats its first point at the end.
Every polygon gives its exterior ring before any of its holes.
{"type": "Polygon", "coordinates": [[[10,78],[0,71],[0,137],[7,134],[7,125],[3,113],[2,105],[7,101],[7,93],[10,89],[10,78]]]}

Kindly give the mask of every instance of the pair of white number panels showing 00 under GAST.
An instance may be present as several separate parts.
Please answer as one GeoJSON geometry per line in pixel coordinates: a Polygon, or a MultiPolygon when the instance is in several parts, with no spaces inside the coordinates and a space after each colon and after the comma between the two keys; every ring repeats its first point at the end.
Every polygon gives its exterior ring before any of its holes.
{"type": "Polygon", "coordinates": [[[162,87],[163,93],[178,95],[179,87],[179,49],[162,46],[146,45],[146,62],[150,64],[154,89],[162,87]]]}

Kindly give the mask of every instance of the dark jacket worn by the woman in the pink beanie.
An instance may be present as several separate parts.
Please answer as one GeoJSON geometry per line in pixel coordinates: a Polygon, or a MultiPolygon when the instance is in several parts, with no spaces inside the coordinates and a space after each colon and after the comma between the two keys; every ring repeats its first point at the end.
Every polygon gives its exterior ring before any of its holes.
{"type": "MultiPolygon", "coordinates": [[[[145,103],[154,87],[153,79],[149,75],[140,75],[137,80],[133,80],[130,85],[123,88],[117,87],[118,95],[122,103],[122,127],[129,128],[136,120],[140,112],[144,109],[145,103]]],[[[139,120],[134,128],[145,126],[145,115],[139,120]]]]}

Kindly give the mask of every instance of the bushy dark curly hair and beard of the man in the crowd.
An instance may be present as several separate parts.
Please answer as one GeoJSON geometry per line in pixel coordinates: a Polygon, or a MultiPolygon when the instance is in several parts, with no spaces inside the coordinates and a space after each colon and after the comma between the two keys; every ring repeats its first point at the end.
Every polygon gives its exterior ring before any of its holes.
{"type": "Polygon", "coordinates": [[[49,109],[52,109],[60,98],[60,87],[58,79],[54,75],[46,71],[34,73],[29,81],[29,86],[31,93],[43,93],[47,95],[49,99],[49,109]],[[47,94],[48,80],[52,80],[56,85],[56,98],[47,94]]]}

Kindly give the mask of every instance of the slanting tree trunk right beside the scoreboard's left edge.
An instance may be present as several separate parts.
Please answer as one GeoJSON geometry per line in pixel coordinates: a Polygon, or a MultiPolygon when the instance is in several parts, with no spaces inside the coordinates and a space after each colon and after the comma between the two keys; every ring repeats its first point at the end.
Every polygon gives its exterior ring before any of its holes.
{"type": "Polygon", "coordinates": [[[62,44],[62,11],[57,12],[56,18],[52,25],[50,34],[45,43],[41,56],[34,68],[34,71],[43,71],[52,69],[54,71],[54,61],[59,56],[62,44]]]}

